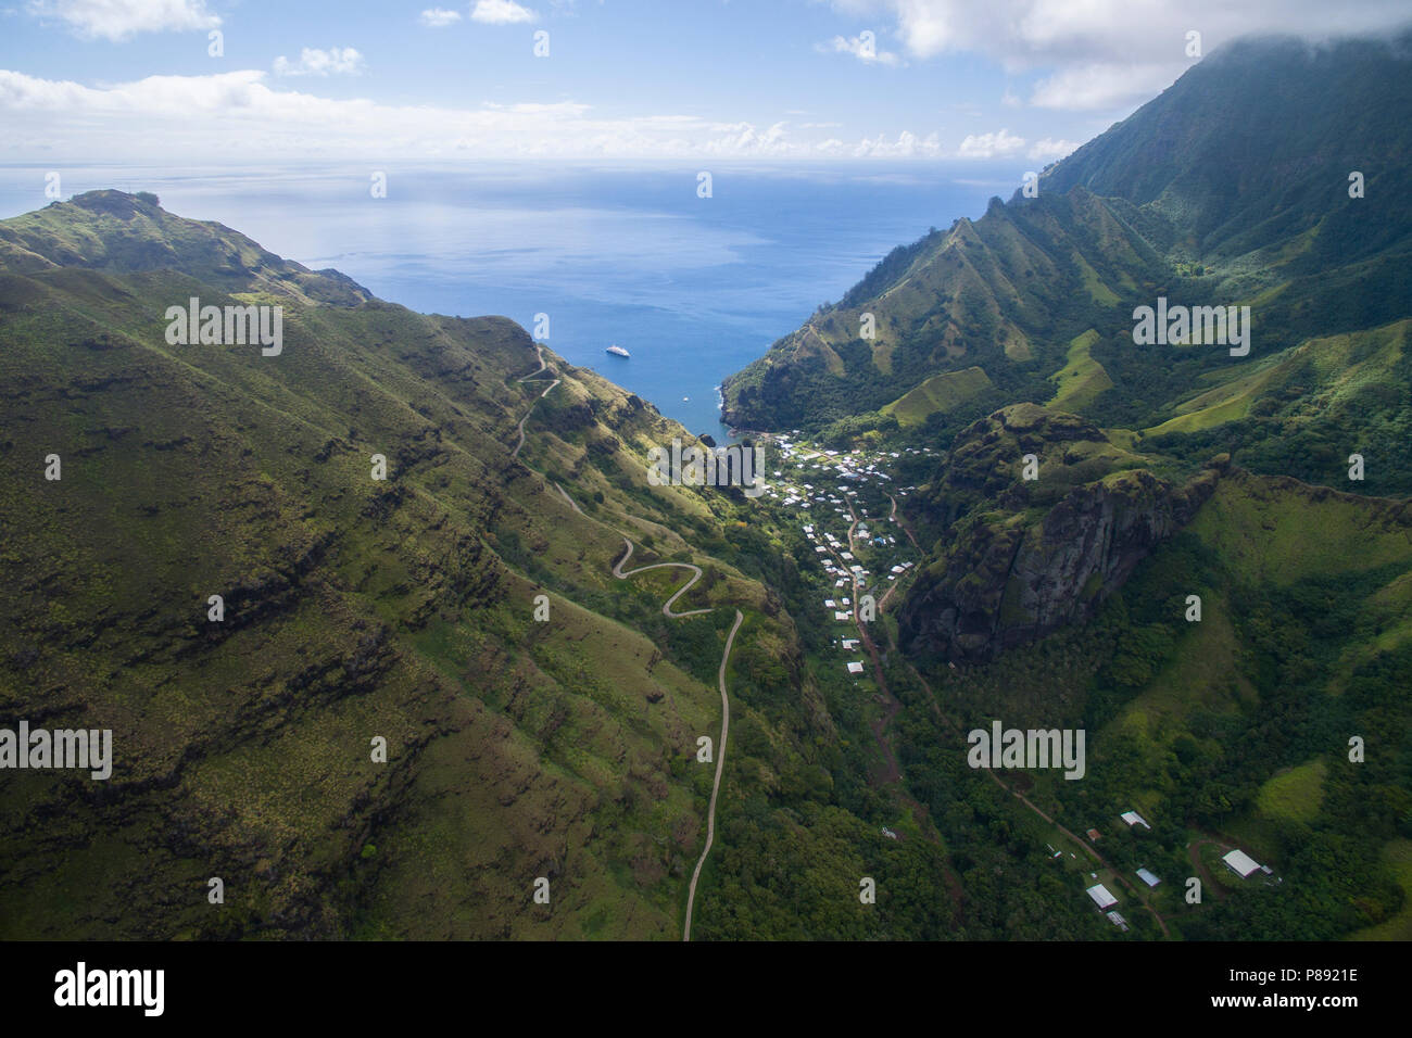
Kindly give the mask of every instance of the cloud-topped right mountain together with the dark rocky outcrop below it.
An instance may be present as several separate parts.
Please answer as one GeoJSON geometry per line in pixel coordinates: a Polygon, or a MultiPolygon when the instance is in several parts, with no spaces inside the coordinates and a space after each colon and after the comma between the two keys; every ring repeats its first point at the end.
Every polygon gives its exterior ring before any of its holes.
{"type": "Polygon", "coordinates": [[[731,376],[741,426],[946,452],[907,506],[904,644],[988,660],[1091,617],[1213,458],[1412,494],[1409,62],[1412,35],[1237,41],[731,376]],[[1244,308],[1248,338],[1139,343],[1141,306],[1244,308]]]}

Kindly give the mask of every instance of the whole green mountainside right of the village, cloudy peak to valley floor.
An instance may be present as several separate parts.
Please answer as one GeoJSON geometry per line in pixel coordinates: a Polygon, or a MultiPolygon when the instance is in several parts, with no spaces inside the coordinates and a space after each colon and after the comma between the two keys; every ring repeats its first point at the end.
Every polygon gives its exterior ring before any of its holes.
{"type": "Polygon", "coordinates": [[[1238,41],[726,381],[737,428],[936,459],[884,623],[967,905],[1007,897],[988,828],[1043,904],[1097,877],[1141,939],[1412,935],[1409,61],[1238,41]],[[1158,298],[1250,306],[1248,356],[1135,345],[1158,298]],[[979,794],[955,744],[991,723],[1086,730],[1084,781],[979,794]],[[1236,847],[1274,874],[1231,880],[1236,847]]]}

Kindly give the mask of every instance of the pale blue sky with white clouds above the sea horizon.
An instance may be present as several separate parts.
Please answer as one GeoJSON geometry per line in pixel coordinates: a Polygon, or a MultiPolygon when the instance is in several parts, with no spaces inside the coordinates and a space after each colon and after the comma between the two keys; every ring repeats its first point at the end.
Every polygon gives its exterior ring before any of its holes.
{"type": "Polygon", "coordinates": [[[0,162],[1038,169],[1234,37],[1408,20],[1406,0],[0,0],[0,162]]]}

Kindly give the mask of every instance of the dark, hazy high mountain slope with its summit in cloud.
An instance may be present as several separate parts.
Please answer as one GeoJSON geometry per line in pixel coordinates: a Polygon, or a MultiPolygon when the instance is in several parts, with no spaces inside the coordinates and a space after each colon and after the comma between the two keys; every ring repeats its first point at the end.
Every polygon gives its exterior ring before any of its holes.
{"type": "Polygon", "coordinates": [[[1161,213],[1195,257],[1258,256],[1291,240],[1298,250],[1261,266],[1313,273],[1405,251],[1409,42],[1238,41],[1059,162],[1043,186],[1082,185],[1161,213]],[[1363,199],[1347,192],[1354,171],[1363,199]]]}

